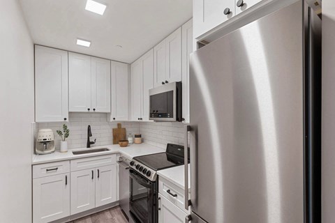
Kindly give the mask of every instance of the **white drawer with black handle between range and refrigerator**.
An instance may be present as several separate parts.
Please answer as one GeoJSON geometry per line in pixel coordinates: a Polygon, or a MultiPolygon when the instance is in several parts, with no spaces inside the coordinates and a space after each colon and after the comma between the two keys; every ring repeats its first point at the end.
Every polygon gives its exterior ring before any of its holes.
{"type": "MultiPolygon", "coordinates": [[[[186,210],[184,206],[184,189],[174,185],[170,181],[160,176],[158,178],[158,192],[161,193],[166,199],[171,201],[175,206],[181,208],[181,210],[184,210],[184,212],[189,213],[189,210],[186,210]]],[[[190,196],[191,193],[188,194],[188,197],[190,196]]]]}

